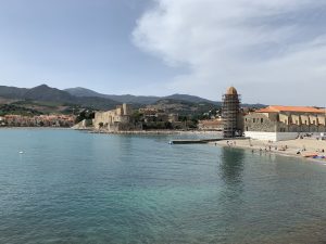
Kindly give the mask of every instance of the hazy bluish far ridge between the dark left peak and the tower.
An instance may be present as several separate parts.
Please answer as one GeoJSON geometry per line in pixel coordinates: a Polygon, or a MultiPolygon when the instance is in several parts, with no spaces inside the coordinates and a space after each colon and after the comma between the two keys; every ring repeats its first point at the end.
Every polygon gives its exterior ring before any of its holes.
{"type": "Polygon", "coordinates": [[[70,94],[76,95],[76,97],[98,97],[98,98],[105,98],[105,99],[112,99],[114,101],[117,101],[120,103],[133,103],[133,104],[153,104],[162,99],[167,100],[179,100],[179,101],[186,101],[191,103],[200,103],[200,102],[206,102],[206,103],[213,103],[215,105],[218,105],[218,102],[211,101],[208,99],[202,99],[200,97],[196,95],[189,95],[189,94],[172,94],[167,97],[154,97],[154,95],[131,95],[131,94],[122,94],[122,95],[114,95],[114,94],[102,94],[98,93],[96,91],[86,89],[86,88],[68,88],[65,89],[70,94]]]}

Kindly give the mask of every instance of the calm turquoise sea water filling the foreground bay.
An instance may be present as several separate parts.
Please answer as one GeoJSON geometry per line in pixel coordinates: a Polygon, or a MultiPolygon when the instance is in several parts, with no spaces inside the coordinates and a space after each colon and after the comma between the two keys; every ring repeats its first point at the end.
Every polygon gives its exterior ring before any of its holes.
{"type": "Polygon", "coordinates": [[[326,166],[172,138],[0,130],[0,243],[326,242],[326,166]]]}

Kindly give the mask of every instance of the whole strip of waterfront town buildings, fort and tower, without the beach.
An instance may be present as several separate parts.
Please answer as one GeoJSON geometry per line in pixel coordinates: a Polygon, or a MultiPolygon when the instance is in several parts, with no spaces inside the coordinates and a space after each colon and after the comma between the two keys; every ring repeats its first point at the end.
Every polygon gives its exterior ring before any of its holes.
{"type": "MultiPolygon", "coordinates": [[[[293,140],[302,136],[326,137],[326,110],[313,106],[242,106],[235,87],[229,87],[221,105],[193,114],[178,114],[175,105],[135,108],[123,103],[110,111],[82,110],[65,114],[4,114],[1,127],[72,127],[108,133],[139,131],[213,131],[224,138],[250,138],[261,141],[293,140]]],[[[29,111],[27,111],[30,113],[29,111]]],[[[25,112],[25,113],[27,113],[25,112]]]]}

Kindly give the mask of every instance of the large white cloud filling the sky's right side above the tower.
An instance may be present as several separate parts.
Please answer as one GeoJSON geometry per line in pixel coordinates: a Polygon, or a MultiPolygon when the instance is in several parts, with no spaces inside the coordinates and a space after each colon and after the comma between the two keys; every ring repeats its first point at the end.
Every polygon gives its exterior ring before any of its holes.
{"type": "Polygon", "coordinates": [[[220,100],[230,85],[244,102],[326,100],[325,3],[309,0],[155,0],[134,30],[140,49],[188,74],[165,87],[220,100]],[[324,25],[323,25],[324,24],[324,25]]]}

